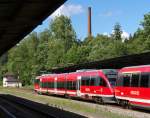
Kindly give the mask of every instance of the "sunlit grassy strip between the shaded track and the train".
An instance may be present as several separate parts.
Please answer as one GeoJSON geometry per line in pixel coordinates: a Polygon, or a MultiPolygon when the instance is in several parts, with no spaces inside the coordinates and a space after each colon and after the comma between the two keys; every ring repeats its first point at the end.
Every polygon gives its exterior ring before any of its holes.
{"type": "Polygon", "coordinates": [[[97,104],[93,104],[91,107],[91,105],[83,104],[81,102],[74,101],[71,99],[37,95],[31,90],[30,87],[23,89],[0,87],[0,93],[23,97],[32,101],[59,107],[64,110],[69,110],[72,112],[96,118],[131,118],[117,113],[112,113],[108,109],[102,109],[102,107],[100,107],[100,105],[97,104]]]}

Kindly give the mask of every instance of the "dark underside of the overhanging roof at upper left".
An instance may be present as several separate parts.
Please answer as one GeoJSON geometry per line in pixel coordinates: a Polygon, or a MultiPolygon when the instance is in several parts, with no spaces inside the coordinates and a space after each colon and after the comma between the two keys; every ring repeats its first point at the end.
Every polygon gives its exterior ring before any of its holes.
{"type": "Polygon", "coordinates": [[[42,24],[66,0],[0,0],[0,55],[42,24]]]}

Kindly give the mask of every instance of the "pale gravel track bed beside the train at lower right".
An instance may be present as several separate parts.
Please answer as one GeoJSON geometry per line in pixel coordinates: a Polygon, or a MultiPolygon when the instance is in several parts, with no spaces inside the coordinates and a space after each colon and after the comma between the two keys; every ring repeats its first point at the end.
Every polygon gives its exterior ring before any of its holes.
{"type": "Polygon", "coordinates": [[[123,108],[122,106],[116,103],[97,104],[93,101],[85,101],[85,100],[78,100],[78,101],[74,100],[74,102],[75,103],[80,102],[80,104],[86,105],[87,107],[91,107],[97,111],[103,110],[106,112],[112,112],[112,113],[120,114],[122,116],[128,116],[131,118],[150,118],[149,110],[141,109],[135,106],[128,109],[128,108],[123,108]]]}

